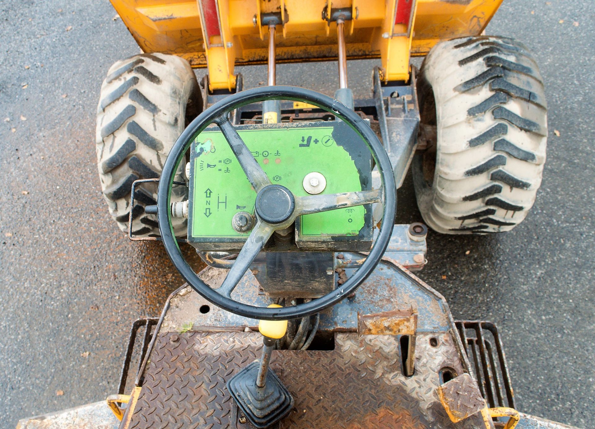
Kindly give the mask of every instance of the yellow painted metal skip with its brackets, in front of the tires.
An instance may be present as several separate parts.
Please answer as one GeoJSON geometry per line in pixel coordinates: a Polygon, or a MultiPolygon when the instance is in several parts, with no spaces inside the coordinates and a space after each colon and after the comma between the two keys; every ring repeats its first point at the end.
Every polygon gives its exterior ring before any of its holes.
{"type": "Polygon", "coordinates": [[[409,0],[414,2],[411,32],[394,23],[397,0],[216,0],[221,36],[206,49],[201,0],[111,0],[144,52],[186,58],[207,67],[211,90],[232,90],[234,65],[264,64],[268,32],[261,14],[281,12],[277,62],[337,59],[336,24],[323,19],[332,8],[351,8],[346,27],[347,58],[381,58],[383,79],[409,79],[410,55],[425,55],[439,40],[476,36],[486,28],[502,0],[409,0]],[[216,45],[216,46],[211,46],[216,45]]]}

